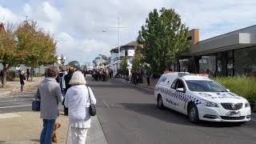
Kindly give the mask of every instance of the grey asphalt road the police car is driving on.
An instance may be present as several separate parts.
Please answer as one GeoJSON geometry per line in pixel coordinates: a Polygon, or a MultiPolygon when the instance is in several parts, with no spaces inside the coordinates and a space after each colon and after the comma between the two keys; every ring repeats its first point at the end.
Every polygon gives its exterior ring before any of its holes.
{"type": "Polygon", "coordinates": [[[87,82],[97,98],[98,118],[109,144],[256,143],[256,122],[195,125],[173,110],[159,110],[152,91],[114,80],[87,82]]]}

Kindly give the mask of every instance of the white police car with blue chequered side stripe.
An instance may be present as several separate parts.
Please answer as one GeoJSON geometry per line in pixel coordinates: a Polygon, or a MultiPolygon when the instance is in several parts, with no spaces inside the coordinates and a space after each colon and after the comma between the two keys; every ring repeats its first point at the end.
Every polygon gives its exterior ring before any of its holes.
{"type": "Polygon", "coordinates": [[[248,122],[250,103],[206,76],[162,74],[155,86],[158,108],[168,107],[188,115],[190,122],[248,122]]]}

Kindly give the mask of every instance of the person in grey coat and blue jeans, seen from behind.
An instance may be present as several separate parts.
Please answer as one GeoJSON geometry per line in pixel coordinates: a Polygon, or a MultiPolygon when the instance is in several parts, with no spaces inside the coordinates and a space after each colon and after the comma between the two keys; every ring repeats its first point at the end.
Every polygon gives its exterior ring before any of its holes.
{"type": "Polygon", "coordinates": [[[37,98],[40,99],[40,118],[43,128],[40,144],[51,144],[54,123],[58,118],[58,102],[62,102],[62,91],[55,78],[58,74],[57,67],[46,69],[45,78],[39,84],[37,98]]]}

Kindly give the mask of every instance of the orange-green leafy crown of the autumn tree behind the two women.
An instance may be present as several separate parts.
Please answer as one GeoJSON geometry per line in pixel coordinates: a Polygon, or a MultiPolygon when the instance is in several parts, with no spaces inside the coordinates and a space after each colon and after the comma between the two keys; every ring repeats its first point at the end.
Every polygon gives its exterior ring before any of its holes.
{"type": "Polygon", "coordinates": [[[56,42],[49,33],[43,31],[33,20],[23,21],[16,30],[19,58],[25,66],[35,68],[57,62],[56,42]]]}

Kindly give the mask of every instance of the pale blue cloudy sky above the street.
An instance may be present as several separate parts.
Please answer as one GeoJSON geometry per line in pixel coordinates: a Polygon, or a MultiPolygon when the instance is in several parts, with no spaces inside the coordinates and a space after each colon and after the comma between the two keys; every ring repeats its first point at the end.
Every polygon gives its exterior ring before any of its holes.
{"type": "Polygon", "coordinates": [[[136,40],[150,11],[173,8],[200,40],[256,24],[255,0],[0,0],[0,21],[38,22],[57,42],[66,62],[92,62],[98,54],[136,40]],[[105,30],[106,32],[102,32],[105,30]]]}

